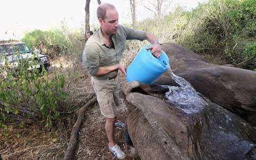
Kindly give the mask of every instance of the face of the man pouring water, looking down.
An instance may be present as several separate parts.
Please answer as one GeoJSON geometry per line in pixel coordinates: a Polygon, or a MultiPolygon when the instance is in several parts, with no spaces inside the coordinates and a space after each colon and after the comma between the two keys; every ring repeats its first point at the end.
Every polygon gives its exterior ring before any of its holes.
{"type": "Polygon", "coordinates": [[[102,20],[99,18],[101,30],[107,35],[113,35],[117,33],[118,29],[118,13],[115,9],[108,9],[106,11],[106,18],[102,20]]]}

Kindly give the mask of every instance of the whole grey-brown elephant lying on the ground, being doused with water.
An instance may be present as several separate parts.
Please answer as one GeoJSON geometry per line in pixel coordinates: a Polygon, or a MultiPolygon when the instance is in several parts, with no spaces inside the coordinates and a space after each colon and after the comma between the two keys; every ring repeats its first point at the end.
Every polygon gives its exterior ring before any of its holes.
{"type": "Polygon", "coordinates": [[[164,43],[163,50],[173,73],[190,82],[202,101],[166,99],[182,90],[167,73],[150,85],[126,83],[126,154],[133,149],[137,155],[129,156],[141,159],[256,159],[256,129],[243,119],[254,114],[253,71],[207,63],[178,44],[164,43]]]}

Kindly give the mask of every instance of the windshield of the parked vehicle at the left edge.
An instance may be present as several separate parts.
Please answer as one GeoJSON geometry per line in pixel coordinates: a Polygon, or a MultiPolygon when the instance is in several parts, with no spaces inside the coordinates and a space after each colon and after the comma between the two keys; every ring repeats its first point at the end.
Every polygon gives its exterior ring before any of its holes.
{"type": "Polygon", "coordinates": [[[0,53],[4,55],[30,53],[30,49],[26,44],[3,44],[0,45],[0,53]]]}

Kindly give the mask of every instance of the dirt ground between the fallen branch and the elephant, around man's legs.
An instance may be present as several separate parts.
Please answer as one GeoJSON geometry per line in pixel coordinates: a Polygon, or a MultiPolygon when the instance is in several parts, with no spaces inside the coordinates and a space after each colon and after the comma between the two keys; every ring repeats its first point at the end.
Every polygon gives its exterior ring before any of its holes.
{"type": "MultiPolygon", "coordinates": [[[[119,83],[125,83],[125,77],[119,73],[119,83]]],[[[92,86],[86,85],[87,90],[92,92],[92,86]]],[[[124,95],[121,96],[121,105],[117,108],[118,119],[125,122],[127,108],[124,102],[124,95]]],[[[124,150],[123,129],[115,128],[115,138],[118,145],[124,150]]],[[[105,132],[105,118],[100,114],[98,103],[86,111],[85,120],[79,131],[78,145],[74,159],[116,159],[108,149],[108,139],[105,132]]],[[[126,159],[133,159],[127,157],[126,159]]]]}

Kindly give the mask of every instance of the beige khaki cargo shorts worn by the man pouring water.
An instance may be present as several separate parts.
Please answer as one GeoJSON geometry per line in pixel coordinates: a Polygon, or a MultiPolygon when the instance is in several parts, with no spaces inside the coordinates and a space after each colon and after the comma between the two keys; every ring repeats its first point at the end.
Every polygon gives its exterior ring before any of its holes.
{"type": "Polygon", "coordinates": [[[116,117],[116,106],[120,103],[118,77],[110,80],[92,77],[92,86],[97,95],[101,114],[107,118],[116,117]]]}

